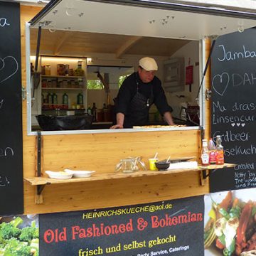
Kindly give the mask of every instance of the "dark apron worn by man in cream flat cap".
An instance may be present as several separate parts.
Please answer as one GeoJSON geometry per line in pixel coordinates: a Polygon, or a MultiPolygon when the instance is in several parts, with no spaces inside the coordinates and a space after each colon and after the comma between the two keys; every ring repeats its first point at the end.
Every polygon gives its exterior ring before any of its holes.
{"type": "Polygon", "coordinates": [[[151,86],[151,95],[146,98],[139,92],[139,81],[136,80],[136,93],[129,104],[127,115],[124,117],[124,128],[133,126],[143,126],[149,122],[149,107],[154,102],[153,85],[151,86]]]}

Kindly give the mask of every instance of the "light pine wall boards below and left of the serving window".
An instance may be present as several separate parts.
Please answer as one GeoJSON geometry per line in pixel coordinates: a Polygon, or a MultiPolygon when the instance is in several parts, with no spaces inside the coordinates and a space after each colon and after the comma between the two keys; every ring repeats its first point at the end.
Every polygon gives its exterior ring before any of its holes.
{"type": "MultiPolygon", "coordinates": [[[[25,21],[40,9],[21,6],[22,83],[26,85],[25,21]]],[[[36,172],[36,137],[27,135],[26,100],[23,101],[23,176],[36,172]]],[[[159,152],[159,158],[171,155],[198,156],[201,145],[198,130],[172,132],[133,132],[112,134],[72,134],[43,136],[43,172],[70,169],[94,169],[113,172],[119,159],[159,152]]],[[[199,172],[122,178],[85,183],[47,185],[43,203],[35,204],[35,187],[24,182],[25,213],[53,213],[125,206],[164,201],[208,193],[200,185],[199,172]]]]}

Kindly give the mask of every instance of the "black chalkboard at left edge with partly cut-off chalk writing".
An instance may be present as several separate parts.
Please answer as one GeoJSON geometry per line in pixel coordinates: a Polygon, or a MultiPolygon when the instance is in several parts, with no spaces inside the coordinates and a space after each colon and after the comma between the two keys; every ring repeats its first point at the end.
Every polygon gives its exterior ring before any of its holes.
{"type": "Polygon", "coordinates": [[[0,215],[23,213],[20,6],[0,1],[0,215]]]}

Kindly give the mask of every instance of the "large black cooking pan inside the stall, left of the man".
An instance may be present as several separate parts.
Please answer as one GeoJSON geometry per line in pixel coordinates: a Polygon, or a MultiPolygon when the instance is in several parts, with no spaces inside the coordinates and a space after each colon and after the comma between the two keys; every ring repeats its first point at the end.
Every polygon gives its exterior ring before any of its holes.
{"type": "Polygon", "coordinates": [[[47,114],[38,114],[36,119],[43,131],[90,129],[93,115],[51,116],[47,114]]]}

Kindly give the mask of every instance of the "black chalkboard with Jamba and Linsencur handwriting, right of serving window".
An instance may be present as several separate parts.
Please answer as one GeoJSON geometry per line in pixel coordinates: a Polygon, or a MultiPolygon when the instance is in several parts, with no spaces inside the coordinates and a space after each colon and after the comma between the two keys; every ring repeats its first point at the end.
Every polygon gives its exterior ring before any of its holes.
{"type": "Polygon", "coordinates": [[[225,162],[210,191],[256,187],[256,28],[220,36],[211,59],[211,135],[221,135],[225,162]]]}

